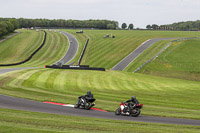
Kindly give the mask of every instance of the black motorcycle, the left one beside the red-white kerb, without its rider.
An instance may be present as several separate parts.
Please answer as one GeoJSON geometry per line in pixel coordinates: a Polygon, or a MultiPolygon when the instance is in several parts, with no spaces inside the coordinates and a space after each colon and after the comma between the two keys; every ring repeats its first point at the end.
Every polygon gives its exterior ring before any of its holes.
{"type": "Polygon", "coordinates": [[[78,102],[74,105],[74,108],[89,110],[95,105],[95,103],[93,103],[95,100],[96,99],[94,98],[79,97],[78,102]]]}

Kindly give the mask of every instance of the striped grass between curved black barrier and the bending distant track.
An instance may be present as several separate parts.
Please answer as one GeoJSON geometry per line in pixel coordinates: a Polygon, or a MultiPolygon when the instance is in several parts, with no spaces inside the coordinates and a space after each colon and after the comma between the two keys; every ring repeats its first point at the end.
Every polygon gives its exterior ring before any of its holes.
{"type": "Polygon", "coordinates": [[[29,62],[22,66],[44,67],[44,65],[51,65],[65,55],[68,47],[68,40],[63,34],[47,31],[47,40],[44,47],[29,62]]]}

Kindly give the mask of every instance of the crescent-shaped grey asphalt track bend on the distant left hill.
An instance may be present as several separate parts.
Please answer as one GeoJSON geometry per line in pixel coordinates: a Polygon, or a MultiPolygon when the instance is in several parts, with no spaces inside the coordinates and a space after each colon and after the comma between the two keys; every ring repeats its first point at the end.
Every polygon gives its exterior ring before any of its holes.
{"type": "Polygon", "coordinates": [[[64,31],[60,31],[60,32],[68,38],[69,48],[65,56],[58,62],[62,62],[63,64],[66,64],[67,62],[71,61],[75,57],[79,46],[78,46],[78,41],[72,34],[69,34],[64,31]]]}

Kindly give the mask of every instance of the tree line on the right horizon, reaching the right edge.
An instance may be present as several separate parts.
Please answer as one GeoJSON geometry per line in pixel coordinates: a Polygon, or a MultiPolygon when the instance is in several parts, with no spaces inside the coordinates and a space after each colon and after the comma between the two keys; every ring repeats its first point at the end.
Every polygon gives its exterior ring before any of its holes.
{"type": "Polygon", "coordinates": [[[199,31],[200,30],[200,20],[197,21],[187,21],[178,22],[167,25],[147,25],[146,29],[153,30],[180,30],[180,31],[199,31]]]}

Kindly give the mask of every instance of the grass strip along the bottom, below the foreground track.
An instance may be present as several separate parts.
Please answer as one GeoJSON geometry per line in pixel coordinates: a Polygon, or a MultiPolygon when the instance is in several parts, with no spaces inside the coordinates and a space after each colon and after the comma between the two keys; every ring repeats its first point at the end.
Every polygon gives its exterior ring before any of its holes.
{"type": "Polygon", "coordinates": [[[199,126],[153,124],[0,109],[1,133],[198,133],[199,126]]]}

